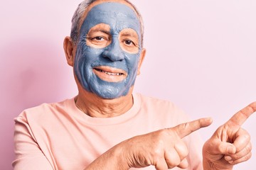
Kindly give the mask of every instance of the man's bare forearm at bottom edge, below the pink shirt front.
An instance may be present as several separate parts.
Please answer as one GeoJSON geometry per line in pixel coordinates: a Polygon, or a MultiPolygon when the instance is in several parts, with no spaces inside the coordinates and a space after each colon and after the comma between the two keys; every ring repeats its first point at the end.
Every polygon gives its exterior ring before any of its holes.
{"type": "Polygon", "coordinates": [[[104,170],[104,169],[117,169],[127,170],[129,166],[126,161],[126,157],[122,152],[122,145],[116,145],[95,159],[84,170],[104,170]]]}

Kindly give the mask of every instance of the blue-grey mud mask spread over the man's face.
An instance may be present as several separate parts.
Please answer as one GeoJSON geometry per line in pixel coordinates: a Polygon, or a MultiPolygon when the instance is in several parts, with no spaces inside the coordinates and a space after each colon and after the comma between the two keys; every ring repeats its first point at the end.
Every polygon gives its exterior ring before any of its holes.
{"type": "Polygon", "coordinates": [[[106,2],[94,6],[80,28],[80,37],[75,55],[75,75],[82,87],[101,98],[119,98],[126,96],[137,77],[139,57],[142,52],[140,23],[136,13],[124,4],[106,2]],[[87,44],[87,34],[91,28],[104,23],[110,30],[110,44],[106,47],[92,47],[87,44]],[[129,28],[137,33],[137,52],[127,52],[120,46],[119,33],[129,28]],[[121,70],[120,73],[97,68],[107,67],[110,70],[121,70]],[[96,68],[96,69],[95,69],[96,68]],[[120,81],[106,81],[95,72],[105,76],[119,76],[120,81]]]}

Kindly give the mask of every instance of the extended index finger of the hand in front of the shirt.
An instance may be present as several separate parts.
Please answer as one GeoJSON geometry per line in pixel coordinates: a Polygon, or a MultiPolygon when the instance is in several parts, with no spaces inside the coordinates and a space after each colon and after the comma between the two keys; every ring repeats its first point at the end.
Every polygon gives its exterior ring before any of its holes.
{"type": "Polygon", "coordinates": [[[213,122],[211,118],[201,118],[188,123],[182,123],[174,127],[179,137],[183,138],[192,132],[204,128],[213,122]]]}

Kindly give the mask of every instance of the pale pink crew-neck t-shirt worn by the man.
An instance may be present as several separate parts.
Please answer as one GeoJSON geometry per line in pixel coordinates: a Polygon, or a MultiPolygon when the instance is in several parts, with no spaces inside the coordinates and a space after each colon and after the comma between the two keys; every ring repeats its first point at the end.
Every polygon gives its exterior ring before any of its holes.
{"type": "MultiPolygon", "coordinates": [[[[74,98],[23,111],[15,119],[14,169],[84,169],[119,142],[188,121],[169,101],[133,97],[132,108],[114,118],[92,118],[75,106],[74,98]]],[[[193,133],[183,139],[189,148],[188,169],[203,169],[200,137],[193,133]]]]}

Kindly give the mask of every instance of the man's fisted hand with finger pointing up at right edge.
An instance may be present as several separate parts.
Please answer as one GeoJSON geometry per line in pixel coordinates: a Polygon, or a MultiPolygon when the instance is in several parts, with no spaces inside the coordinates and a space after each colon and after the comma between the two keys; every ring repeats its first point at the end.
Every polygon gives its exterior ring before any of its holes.
{"type": "Polygon", "coordinates": [[[256,102],[235,113],[214,132],[203,146],[203,169],[230,170],[233,165],[250,159],[250,135],[241,125],[255,111],[256,102]]]}

